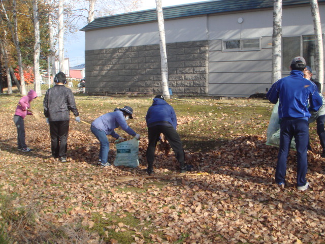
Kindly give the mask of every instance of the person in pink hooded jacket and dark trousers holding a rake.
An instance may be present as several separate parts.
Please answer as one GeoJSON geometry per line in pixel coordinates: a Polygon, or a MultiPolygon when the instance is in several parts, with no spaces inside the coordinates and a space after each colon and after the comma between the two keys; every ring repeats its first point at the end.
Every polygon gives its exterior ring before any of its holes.
{"type": "Polygon", "coordinates": [[[17,105],[16,112],[14,115],[14,122],[17,127],[17,145],[19,151],[31,151],[30,148],[27,147],[25,142],[25,125],[24,118],[26,115],[31,115],[31,112],[27,111],[30,108],[31,100],[37,98],[37,94],[35,90],[30,90],[27,96],[22,97],[17,105]]]}

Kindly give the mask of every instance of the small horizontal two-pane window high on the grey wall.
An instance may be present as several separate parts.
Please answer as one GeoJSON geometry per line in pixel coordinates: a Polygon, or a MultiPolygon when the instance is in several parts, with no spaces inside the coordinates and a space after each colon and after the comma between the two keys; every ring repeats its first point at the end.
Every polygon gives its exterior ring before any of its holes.
{"type": "Polygon", "coordinates": [[[222,51],[249,51],[260,50],[261,41],[256,39],[238,39],[238,40],[225,40],[222,41],[222,51]]]}

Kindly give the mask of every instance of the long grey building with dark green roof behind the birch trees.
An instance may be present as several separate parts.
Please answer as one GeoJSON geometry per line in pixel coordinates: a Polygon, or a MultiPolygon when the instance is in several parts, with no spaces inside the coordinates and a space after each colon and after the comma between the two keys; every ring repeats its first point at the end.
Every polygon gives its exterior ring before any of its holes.
{"type": "MultiPolygon", "coordinates": [[[[318,5],[324,29],[325,0],[318,5]]],[[[173,94],[246,97],[268,91],[273,0],[212,0],[163,11],[173,94]]],[[[309,0],[283,0],[282,15],[283,76],[295,56],[314,68],[309,0]]],[[[88,93],[161,93],[155,9],[96,18],[82,31],[88,93]]]]}

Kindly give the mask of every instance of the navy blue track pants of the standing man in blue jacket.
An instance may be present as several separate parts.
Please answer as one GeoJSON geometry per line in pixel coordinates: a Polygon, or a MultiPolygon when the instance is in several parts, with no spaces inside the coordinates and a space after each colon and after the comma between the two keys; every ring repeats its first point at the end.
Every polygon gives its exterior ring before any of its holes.
{"type": "Polygon", "coordinates": [[[297,149],[297,187],[306,185],[308,120],[305,118],[283,118],[280,124],[280,148],[275,171],[275,181],[285,181],[286,161],[291,139],[295,138],[297,149]]]}

